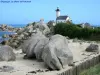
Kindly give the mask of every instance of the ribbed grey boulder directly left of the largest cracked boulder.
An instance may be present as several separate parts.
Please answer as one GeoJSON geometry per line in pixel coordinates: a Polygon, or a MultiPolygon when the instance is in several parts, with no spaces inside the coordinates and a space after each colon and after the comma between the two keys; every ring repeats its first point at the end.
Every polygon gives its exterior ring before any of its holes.
{"type": "Polygon", "coordinates": [[[22,45],[22,51],[26,54],[25,58],[35,58],[41,60],[42,50],[49,41],[39,30],[32,34],[22,45]]]}

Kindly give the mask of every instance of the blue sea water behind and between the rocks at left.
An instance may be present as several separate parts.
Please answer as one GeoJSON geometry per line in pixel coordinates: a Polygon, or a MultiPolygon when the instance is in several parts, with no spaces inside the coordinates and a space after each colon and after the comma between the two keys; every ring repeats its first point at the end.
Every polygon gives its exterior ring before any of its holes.
{"type": "MultiPolygon", "coordinates": [[[[1,24],[0,24],[1,25],[1,24]]],[[[12,27],[15,27],[15,28],[22,28],[22,27],[25,27],[27,24],[7,24],[8,26],[12,26],[12,27]]],[[[9,38],[2,38],[2,36],[4,34],[7,34],[7,35],[12,35],[14,34],[15,32],[8,32],[8,31],[0,31],[0,43],[4,40],[9,40],[9,38]]]]}

